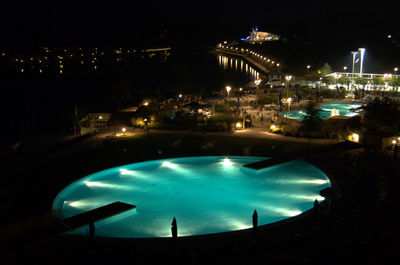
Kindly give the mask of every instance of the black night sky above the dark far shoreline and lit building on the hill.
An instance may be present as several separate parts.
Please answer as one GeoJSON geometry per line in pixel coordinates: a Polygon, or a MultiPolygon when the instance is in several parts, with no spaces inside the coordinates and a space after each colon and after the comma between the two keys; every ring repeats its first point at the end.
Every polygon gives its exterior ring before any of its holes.
{"type": "Polygon", "coordinates": [[[341,27],[367,29],[378,23],[382,31],[395,29],[399,3],[368,4],[366,1],[9,1],[2,2],[1,26],[7,41],[12,39],[66,39],[71,34],[103,37],[115,32],[140,34],[157,27],[247,29],[304,23],[323,30],[337,23],[341,27]],[[68,35],[69,34],[69,35],[68,35]],[[68,37],[67,37],[68,36],[68,37]]]}

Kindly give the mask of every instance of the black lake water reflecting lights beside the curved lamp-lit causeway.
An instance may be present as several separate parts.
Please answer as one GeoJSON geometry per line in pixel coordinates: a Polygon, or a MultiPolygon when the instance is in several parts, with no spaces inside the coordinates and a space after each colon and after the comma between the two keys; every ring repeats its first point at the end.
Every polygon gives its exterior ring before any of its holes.
{"type": "Polygon", "coordinates": [[[2,109],[8,113],[3,124],[11,138],[72,128],[75,104],[83,117],[134,105],[157,93],[224,94],[228,85],[237,89],[259,78],[241,58],[211,51],[172,50],[167,59],[120,61],[106,54],[96,71],[80,61],[63,62],[62,75],[57,63],[49,64],[43,74],[33,67],[21,73],[13,64],[2,65],[0,82],[7,91],[2,109]]]}

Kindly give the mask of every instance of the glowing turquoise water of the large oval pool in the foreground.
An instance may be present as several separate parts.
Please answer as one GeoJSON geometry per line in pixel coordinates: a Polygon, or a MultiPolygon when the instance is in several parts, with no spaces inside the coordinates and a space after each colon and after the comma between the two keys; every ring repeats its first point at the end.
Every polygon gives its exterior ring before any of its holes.
{"type": "MultiPolygon", "coordinates": [[[[176,217],[178,235],[200,235],[252,227],[296,216],[313,207],[327,176],[304,161],[255,172],[245,164],[267,159],[209,156],[153,160],[91,174],[62,190],[53,210],[69,217],[115,201],[136,209],[95,224],[104,237],[170,237],[176,217]]],[[[87,234],[87,228],[72,234],[87,234]]]]}

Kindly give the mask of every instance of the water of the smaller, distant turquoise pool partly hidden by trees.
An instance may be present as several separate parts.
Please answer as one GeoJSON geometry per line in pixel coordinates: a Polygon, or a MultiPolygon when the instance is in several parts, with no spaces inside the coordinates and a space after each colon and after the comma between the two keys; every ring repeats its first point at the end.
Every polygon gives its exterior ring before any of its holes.
{"type": "MultiPolygon", "coordinates": [[[[353,104],[353,103],[327,103],[323,104],[320,107],[320,116],[322,119],[327,119],[332,116],[346,116],[346,117],[353,117],[358,115],[358,111],[354,111],[361,107],[361,104],[353,104]]],[[[304,110],[292,110],[290,111],[290,115],[288,116],[288,112],[282,112],[281,116],[302,120],[304,116],[306,116],[306,112],[304,110]]]]}

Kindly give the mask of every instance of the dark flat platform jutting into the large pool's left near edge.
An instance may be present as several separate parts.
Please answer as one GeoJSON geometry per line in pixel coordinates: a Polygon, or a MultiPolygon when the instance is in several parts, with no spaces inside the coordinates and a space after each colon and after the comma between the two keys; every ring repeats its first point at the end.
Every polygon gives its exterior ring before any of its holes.
{"type": "Polygon", "coordinates": [[[62,228],[60,233],[64,234],[76,228],[87,226],[90,223],[98,222],[111,216],[132,210],[134,208],[136,208],[136,205],[117,201],[84,213],[65,218],[61,220],[62,228]]]}

